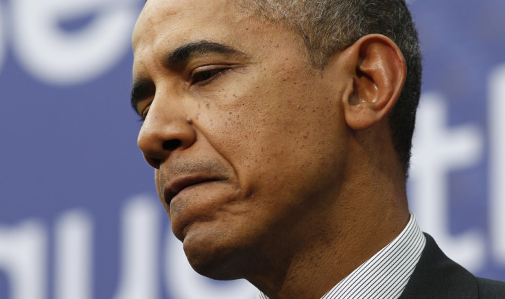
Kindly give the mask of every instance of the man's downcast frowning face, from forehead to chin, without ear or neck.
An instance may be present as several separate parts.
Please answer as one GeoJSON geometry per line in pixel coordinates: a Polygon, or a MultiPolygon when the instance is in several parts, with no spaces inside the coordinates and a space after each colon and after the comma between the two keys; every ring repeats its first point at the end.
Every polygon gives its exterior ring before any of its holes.
{"type": "Polygon", "coordinates": [[[139,147],[189,262],[215,278],[314,234],[349,134],[343,71],[235,3],[149,0],[133,37],[139,147]]]}

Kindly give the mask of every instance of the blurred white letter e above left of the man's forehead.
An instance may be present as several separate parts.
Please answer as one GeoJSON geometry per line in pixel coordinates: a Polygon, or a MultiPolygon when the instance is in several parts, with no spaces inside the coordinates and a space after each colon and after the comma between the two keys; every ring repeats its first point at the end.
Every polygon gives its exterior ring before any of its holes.
{"type": "Polygon", "coordinates": [[[15,0],[14,52],[23,67],[52,84],[79,84],[102,75],[129,49],[137,18],[133,0],[15,0]],[[62,22],[90,16],[79,30],[62,22]]]}

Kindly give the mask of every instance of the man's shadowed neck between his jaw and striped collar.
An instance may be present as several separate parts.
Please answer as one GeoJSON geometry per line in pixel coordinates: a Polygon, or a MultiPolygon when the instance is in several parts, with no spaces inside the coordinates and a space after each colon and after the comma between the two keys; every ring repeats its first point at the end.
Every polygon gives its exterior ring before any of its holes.
{"type": "Polygon", "coordinates": [[[321,298],[407,225],[405,184],[395,184],[403,179],[390,175],[377,169],[349,176],[333,205],[299,222],[292,229],[297,242],[286,243],[277,259],[263,263],[267,268],[248,280],[270,299],[321,298]]]}

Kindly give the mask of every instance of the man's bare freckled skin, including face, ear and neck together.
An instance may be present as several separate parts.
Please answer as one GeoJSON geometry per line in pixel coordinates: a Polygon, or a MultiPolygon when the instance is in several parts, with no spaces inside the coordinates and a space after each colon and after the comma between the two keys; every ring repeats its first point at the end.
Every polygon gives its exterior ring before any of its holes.
{"type": "Polygon", "coordinates": [[[301,36],[234,3],[146,3],[139,147],[197,272],[320,298],[408,222],[387,123],[405,61],[373,35],[316,69],[301,36]]]}

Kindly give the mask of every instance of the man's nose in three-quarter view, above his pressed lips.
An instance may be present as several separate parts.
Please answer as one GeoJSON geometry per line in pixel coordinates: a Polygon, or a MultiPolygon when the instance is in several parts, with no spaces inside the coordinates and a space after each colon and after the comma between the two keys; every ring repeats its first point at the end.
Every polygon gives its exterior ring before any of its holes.
{"type": "Polygon", "coordinates": [[[152,167],[159,169],[161,163],[176,150],[191,147],[196,141],[196,132],[187,116],[176,117],[151,105],[139,132],[137,144],[145,160],[152,167]]]}

